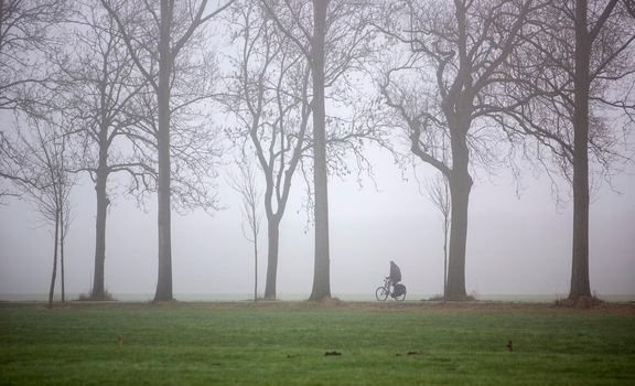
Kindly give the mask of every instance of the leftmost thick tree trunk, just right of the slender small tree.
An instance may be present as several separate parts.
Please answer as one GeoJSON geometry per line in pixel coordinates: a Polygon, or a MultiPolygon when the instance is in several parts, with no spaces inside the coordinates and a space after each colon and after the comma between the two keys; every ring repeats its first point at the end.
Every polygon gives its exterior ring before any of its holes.
{"type": "Polygon", "coordinates": [[[106,159],[99,160],[95,191],[97,193],[97,218],[95,219],[95,275],[90,299],[105,300],[105,264],[106,264],[106,216],[108,214],[108,196],[106,195],[106,159]]]}

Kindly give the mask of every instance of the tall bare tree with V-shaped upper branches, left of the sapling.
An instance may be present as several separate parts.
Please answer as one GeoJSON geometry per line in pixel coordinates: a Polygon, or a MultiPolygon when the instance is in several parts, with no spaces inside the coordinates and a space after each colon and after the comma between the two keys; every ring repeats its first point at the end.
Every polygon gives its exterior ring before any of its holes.
{"type": "Polygon", "coordinates": [[[137,68],[157,98],[159,272],[155,301],[173,299],[171,237],[172,86],[179,81],[177,60],[201,28],[232,1],[207,10],[207,0],[176,2],[101,0],[116,21],[137,68]]]}

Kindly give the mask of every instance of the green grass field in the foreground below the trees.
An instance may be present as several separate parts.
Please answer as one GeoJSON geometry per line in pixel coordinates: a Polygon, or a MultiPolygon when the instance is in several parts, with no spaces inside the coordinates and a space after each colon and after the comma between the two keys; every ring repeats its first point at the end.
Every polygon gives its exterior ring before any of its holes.
{"type": "Polygon", "coordinates": [[[28,384],[634,385],[635,308],[0,303],[0,385],[28,384]]]}

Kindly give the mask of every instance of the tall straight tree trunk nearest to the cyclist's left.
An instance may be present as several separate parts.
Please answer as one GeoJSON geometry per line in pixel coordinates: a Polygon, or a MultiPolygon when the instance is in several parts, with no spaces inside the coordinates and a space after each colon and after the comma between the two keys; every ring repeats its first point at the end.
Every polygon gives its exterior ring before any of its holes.
{"type": "Polygon", "coordinates": [[[324,107],[324,41],[327,0],[313,0],[313,162],[315,191],[315,264],[311,300],[331,297],[329,254],[329,191],[326,174],[326,122],[324,107]]]}

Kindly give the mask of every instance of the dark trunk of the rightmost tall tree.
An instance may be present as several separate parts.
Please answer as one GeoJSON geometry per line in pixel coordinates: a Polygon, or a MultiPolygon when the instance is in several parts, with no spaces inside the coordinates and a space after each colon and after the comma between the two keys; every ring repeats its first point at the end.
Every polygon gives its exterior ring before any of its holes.
{"type": "Polygon", "coordinates": [[[591,297],[589,280],[589,67],[591,41],[586,1],[575,6],[575,77],[573,116],[573,247],[570,300],[591,297]]]}

